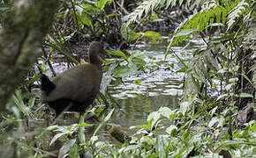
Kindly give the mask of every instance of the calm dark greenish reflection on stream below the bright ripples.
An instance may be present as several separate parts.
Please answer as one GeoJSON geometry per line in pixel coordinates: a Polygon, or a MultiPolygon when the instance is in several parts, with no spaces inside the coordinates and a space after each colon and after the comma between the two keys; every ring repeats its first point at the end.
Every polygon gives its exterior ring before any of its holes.
{"type": "Polygon", "coordinates": [[[178,103],[177,96],[145,96],[137,94],[136,97],[116,99],[121,111],[113,114],[111,122],[124,128],[147,124],[147,115],[157,111],[161,106],[173,109],[178,103]]]}

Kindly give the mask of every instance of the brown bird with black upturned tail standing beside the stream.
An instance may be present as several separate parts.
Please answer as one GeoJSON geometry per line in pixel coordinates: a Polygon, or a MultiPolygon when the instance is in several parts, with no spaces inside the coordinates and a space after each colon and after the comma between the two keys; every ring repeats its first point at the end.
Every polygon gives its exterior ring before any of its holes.
{"type": "Polygon", "coordinates": [[[102,42],[93,41],[88,50],[89,61],[81,62],[57,75],[50,81],[41,75],[41,99],[56,111],[77,111],[80,114],[94,102],[102,83],[102,62],[99,55],[104,53],[102,42]]]}

